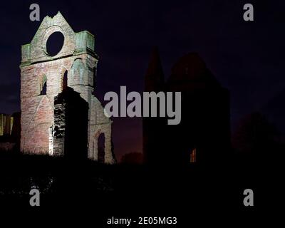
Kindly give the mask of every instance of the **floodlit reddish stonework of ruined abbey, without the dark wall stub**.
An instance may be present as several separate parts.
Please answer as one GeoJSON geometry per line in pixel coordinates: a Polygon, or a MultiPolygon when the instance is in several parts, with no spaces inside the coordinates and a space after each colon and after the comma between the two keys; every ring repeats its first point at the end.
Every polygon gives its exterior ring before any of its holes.
{"type": "MultiPolygon", "coordinates": [[[[46,16],[31,43],[22,46],[21,59],[21,150],[31,153],[58,154],[54,150],[54,98],[63,90],[63,75],[68,73],[68,87],[80,93],[88,109],[88,158],[97,160],[96,133],[105,133],[105,162],[113,163],[111,153],[111,121],[93,95],[94,68],[98,56],[94,36],[88,31],[75,33],[60,12],[46,16]],[[46,42],[55,32],[64,36],[63,47],[56,56],[47,52],[46,42]],[[41,95],[46,82],[46,94],[41,95]]],[[[57,111],[57,110],[56,110],[57,111]]],[[[80,121],[80,120],[78,120],[80,121]]]]}

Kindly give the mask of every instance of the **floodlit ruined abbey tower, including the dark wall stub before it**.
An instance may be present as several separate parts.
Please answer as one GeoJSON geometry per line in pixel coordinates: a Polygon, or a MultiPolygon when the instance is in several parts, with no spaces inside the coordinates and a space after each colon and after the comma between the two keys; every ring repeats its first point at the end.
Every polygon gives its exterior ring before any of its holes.
{"type": "MultiPolygon", "coordinates": [[[[58,12],[43,19],[21,53],[21,151],[66,155],[67,148],[86,147],[86,157],[98,160],[98,138],[103,134],[104,160],[113,163],[112,121],[93,95],[98,63],[94,36],[74,32],[58,12]],[[63,34],[63,46],[51,55],[46,43],[56,32],[63,34]]],[[[78,155],[84,153],[79,149],[78,155]]]]}

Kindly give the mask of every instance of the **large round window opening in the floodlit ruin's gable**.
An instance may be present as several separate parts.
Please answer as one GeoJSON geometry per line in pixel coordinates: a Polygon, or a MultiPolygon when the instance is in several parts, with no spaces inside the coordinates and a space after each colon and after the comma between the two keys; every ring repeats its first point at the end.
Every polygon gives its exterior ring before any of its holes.
{"type": "Polygon", "coordinates": [[[61,51],[63,47],[64,36],[60,31],[56,31],[48,37],[48,41],[46,41],[46,52],[50,56],[56,56],[58,52],[61,51]]]}

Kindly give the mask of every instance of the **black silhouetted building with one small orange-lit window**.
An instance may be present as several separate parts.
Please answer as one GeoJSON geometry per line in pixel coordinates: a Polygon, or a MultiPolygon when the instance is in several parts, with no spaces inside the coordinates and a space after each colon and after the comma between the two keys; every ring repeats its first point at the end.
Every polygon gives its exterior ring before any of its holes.
{"type": "MultiPolygon", "coordinates": [[[[149,86],[160,86],[151,84],[151,80],[160,78],[151,72],[147,71],[146,88],[159,91],[149,86]]],[[[144,119],[145,161],[222,162],[230,149],[229,91],[219,84],[197,53],[182,56],[160,88],[163,87],[165,91],[182,93],[181,122],[167,125],[160,118],[144,119]]]]}

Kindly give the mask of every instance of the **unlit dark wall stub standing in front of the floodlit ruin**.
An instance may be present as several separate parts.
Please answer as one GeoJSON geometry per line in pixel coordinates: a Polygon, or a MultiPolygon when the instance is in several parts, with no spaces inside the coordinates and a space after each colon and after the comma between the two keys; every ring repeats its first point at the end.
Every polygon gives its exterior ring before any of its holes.
{"type": "Polygon", "coordinates": [[[53,152],[73,158],[87,158],[88,103],[72,88],[55,98],[53,152]]]}

